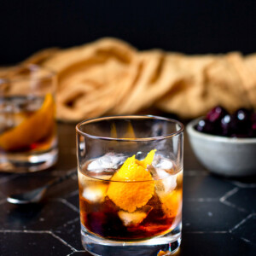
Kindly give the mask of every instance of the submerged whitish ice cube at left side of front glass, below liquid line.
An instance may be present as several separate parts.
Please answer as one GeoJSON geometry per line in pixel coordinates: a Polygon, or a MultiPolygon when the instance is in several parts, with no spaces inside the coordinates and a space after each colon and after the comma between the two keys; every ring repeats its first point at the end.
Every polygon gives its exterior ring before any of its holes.
{"type": "Polygon", "coordinates": [[[107,190],[108,184],[95,182],[95,184],[84,188],[82,196],[90,202],[102,202],[107,195],[107,190]]]}

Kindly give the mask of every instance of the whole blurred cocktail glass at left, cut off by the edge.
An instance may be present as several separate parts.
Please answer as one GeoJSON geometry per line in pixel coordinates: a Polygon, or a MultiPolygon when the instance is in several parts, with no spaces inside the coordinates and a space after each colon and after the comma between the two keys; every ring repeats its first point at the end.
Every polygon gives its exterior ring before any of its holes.
{"type": "Polygon", "coordinates": [[[36,172],[55,164],[55,73],[17,67],[0,79],[0,172],[36,172]]]}

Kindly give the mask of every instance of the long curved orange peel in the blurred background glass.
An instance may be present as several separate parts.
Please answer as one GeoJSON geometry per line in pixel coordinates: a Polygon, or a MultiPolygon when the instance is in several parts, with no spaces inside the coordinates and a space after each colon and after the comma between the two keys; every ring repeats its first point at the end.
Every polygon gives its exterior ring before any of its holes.
{"type": "Polygon", "coordinates": [[[29,147],[32,143],[47,137],[54,129],[55,101],[47,94],[41,108],[0,136],[0,147],[5,150],[16,150],[29,147]]]}

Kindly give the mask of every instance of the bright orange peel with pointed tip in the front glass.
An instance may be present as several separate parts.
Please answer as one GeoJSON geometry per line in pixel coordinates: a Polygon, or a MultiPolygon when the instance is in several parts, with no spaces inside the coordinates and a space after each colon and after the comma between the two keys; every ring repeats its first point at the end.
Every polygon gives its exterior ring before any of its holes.
{"type": "Polygon", "coordinates": [[[154,180],[146,167],[152,163],[155,151],[151,150],[141,161],[135,159],[135,155],[127,158],[113,174],[107,195],[121,209],[134,212],[154,195],[154,180]]]}

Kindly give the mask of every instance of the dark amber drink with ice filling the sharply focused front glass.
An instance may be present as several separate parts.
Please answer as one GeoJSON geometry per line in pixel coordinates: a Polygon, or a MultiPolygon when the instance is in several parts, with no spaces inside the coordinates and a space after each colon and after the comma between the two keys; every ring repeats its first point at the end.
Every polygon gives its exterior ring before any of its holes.
{"type": "Polygon", "coordinates": [[[79,170],[82,226],[115,241],[139,241],[170,232],[181,221],[183,170],[155,154],[146,168],[152,178],[114,181],[126,158],[105,154],[79,170]]]}

